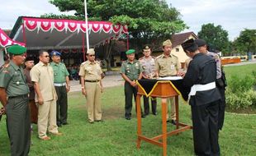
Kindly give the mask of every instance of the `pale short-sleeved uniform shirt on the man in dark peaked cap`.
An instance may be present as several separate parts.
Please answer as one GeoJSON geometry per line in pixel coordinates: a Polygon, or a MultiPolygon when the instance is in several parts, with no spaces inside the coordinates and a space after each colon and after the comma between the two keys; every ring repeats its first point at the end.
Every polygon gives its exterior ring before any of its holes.
{"type": "Polygon", "coordinates": [[[146,57],[141,57],[139,59],[139,62],[141,64],[141,67],[143,69],[143,74],[145,76],[154,77],[155,76],[155,61],[154,57],[149,56],[148,58],[146,57]]]}

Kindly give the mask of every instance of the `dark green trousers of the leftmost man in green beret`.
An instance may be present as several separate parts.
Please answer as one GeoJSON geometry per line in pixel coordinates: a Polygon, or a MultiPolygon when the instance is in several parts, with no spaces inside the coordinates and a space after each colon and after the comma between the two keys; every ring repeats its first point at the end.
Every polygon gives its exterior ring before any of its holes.
{"type": "Polygon", "coordinates": [[[31,117],[27,95],[7,100],[7,131],[12,156],[26,156],[31,145],[31,117]]]}

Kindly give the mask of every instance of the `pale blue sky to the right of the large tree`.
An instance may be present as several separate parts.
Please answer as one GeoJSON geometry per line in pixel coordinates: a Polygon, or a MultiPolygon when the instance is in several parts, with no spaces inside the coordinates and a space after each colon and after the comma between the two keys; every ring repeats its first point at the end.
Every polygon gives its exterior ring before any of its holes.
{"type": "Polygon", "coordinates": [[[189,26],[184,32],[201,30],[201,25],[213,23],[221,25],[234,40],[240,31],[256,29],[255,0],[168,0],[168,4],[178,9],[182,20],[189,26]]]}

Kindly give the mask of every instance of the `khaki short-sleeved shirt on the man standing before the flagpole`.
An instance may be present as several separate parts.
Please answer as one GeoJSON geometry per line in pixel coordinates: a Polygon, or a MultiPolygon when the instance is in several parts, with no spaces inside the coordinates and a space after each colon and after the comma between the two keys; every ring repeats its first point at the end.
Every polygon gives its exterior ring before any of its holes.
{"type": "Polygon", "coordinates": [[[79,76],[84,80],[102,80],[102,68],[99,62],[83,62],[80,66],[79,76]]]}

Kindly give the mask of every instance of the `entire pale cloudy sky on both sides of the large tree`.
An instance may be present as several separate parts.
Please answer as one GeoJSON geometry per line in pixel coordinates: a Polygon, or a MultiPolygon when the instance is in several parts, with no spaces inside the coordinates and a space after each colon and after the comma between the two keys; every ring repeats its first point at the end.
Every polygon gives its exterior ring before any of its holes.
{"type": "MultiPolygon", "coordinates": [[[[256,29],[255,0],[167,0],[182,14],[182,20],[189,26],[188,30],[195,34],[201,30],[201,25],[213,23],[221,25],[229,33],[229,39],[234,40],[240,31],[256,29]]],[[[0,0],[0,28],[11,30],[18,16],[40,16],[45,13],[69,14],[60,12],[48,0],[0,0]]]]}

